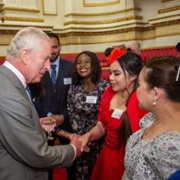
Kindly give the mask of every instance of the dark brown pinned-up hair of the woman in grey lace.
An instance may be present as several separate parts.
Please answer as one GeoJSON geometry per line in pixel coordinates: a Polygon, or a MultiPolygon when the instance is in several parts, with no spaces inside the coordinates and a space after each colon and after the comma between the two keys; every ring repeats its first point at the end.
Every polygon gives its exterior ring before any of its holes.
{"type": "Polygon", "coordinates": [[[180,59],[175,56],[154,57],[144,65],[147,68],[145,82],[148,89],[161,88],[166,97],[180,102],[180,59]]]}

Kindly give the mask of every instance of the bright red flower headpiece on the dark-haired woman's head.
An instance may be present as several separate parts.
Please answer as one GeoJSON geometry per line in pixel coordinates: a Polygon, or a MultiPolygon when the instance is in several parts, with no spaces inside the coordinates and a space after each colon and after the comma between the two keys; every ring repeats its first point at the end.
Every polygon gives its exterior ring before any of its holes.
{"type": "Polygon", "coordinates": [[[114,61],[116,61],[118,58],[126,54],[125,49],[120,49],[119,47],[114,48],[111,51],[111,54],[106,58],[106,60],[109,62],[109,64],[112,64],[114,61]]]}

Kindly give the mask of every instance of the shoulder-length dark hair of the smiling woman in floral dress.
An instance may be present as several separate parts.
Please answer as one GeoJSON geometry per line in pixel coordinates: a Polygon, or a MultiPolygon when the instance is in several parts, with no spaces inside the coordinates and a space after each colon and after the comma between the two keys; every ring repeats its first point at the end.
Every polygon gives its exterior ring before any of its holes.
{"type": "Polygon", "coordinates": [[[101,66],[100,66],[97,55],[91,51],[82,51],[81,53],[79,53],[77,55],[77,57],[75,59],[75,63],[74,63],[72,84],[78,85],[83,80],[83,78],[78,74],[77,69],[76,69],[77,60],[78,60],[79,56],[82,54],[86,54],[91,59],[91,68],[92,68],[91,81],[92,81],[92,83],[97,84],[99,79],[101,78],[101,66]]]}

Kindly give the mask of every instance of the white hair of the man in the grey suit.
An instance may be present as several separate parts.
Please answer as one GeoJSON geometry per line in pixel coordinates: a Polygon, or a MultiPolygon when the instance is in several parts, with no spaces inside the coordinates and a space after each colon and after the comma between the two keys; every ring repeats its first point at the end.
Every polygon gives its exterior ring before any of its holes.
{"type": "Polygon", "coordinates": [[[49,40],[49,37],[41,30],[35,27],[27,27],[17,32],[7,49],[7,60],[16,60],[22,49],[27,48],[31,54],[37,53],[43,40],[49,40]]]}

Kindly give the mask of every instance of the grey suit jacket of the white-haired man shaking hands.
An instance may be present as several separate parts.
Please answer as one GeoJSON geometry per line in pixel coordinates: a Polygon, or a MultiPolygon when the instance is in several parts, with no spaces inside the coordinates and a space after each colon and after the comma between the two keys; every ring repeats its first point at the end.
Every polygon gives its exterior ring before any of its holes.
{"type": "Polygon", "coordinates": [[[47,145],[33,103],[17,76],[0,67],[0,179],[46,180],[48,168],[70,166],[71,145],[47,145]]]}

